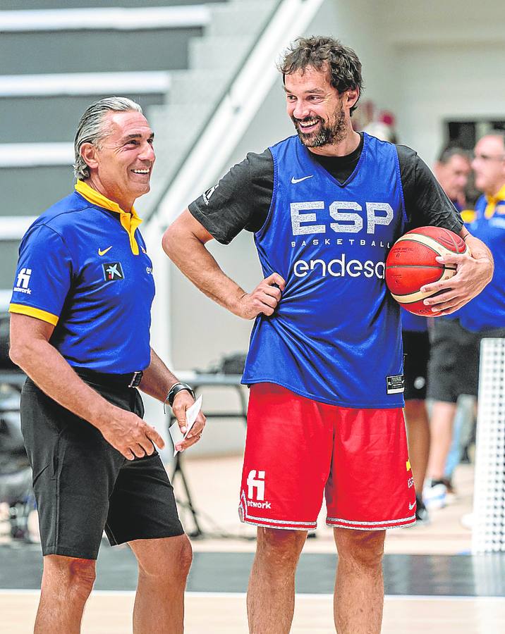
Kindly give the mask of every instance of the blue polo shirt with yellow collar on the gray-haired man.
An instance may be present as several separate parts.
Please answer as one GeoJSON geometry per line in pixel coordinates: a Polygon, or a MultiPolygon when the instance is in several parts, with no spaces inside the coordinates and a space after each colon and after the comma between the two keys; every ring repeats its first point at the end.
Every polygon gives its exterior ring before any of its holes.
{"type": "Polygon", "coordinates": [[[50,343],[75,368],[144,370],[154,280],[141,220],[83,181],[75,189],[23,237],[9,311],[54,325],[50,343]]]}

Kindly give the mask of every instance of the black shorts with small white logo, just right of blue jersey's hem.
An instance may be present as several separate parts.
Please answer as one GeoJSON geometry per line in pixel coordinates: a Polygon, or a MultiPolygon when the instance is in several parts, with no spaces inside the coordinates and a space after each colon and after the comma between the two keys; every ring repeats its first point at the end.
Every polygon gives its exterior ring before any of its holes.
{"type": "Polygon", "coordinates": [[[426,332],[403,330],[403,376],[406,401],[426,398],[428,360],[430,359],[430,336],[426,332]]]}

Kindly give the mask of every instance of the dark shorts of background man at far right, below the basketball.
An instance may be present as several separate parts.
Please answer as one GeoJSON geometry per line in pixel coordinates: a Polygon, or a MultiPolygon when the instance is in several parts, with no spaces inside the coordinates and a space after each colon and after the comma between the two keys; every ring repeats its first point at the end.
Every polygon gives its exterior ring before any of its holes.
{"type": "Polygon", "coordinates": [[[504,336],[505,328],[470,332],[458,319],[435,318],[430,330],[428,398],[456,403],[461,394],[477,396],[480,342],[504,336]]]}

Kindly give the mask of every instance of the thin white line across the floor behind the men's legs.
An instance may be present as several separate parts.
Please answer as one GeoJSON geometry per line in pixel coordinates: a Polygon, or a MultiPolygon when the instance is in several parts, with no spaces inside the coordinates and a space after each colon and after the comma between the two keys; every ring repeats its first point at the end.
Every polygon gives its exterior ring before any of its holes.
{"type": "MultiPolygon", "coordinates": [[[[135,590],[93,590],[93,595],[105,595],[105,596],[134,596],[135,590]]],[[[20,588],[17,590],[16,588],[0,588],[0,595],[39,595],[40,590],[35,589],[27,589],[20,588]]],[[[247,596],[245,592],[185,592],[189,597],[202,597],[215,599],[219,597],[223,597],[226,599],[233,598],[241,598],[245,599],[247,596]]],[[[297,592],[297,597],[304,597],[308,599],[332,599],[333,595],[331,594],[322,594],[322,593],[309,593],[309,592],[297,592]]],[[[505,597],[494,597],[494,596],[462,596],[462,595],[385,595],[385,598],[388,601],[489,601],[493,600],[496,602],[505,602],[505,597]]]]}

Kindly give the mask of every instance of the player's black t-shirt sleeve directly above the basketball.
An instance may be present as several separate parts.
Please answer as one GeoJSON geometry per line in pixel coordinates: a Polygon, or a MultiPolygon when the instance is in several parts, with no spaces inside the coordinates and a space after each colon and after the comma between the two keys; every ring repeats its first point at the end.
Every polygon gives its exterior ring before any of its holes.
{"type": "Polygon", "coordinates": [[[463,220],[430,168],[410,147],[397,145],[408,228],[425,225],[459,233],[463,220]]]}

